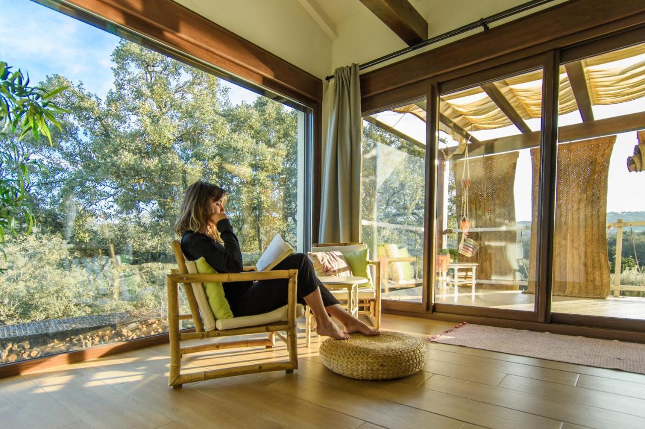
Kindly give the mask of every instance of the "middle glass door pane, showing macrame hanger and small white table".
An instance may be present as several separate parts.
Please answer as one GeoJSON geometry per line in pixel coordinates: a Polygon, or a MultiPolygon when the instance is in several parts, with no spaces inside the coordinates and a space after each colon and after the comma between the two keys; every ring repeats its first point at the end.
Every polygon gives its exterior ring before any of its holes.
{"type": "Polygon", "coordinates": [[[440,94],[435,303],[533,312],[541,108],[542,68],[440,94]]]}

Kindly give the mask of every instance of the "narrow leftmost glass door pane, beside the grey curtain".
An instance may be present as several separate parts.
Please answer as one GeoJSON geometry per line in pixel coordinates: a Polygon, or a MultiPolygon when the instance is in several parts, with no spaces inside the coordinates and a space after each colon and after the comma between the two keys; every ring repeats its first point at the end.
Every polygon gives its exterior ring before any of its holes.
{"type": "Polygon", "coordinates": [[[386,307],[425,303],[425,166],[426,97],[363,118],[362,240],[381,261],[386,307]]]}

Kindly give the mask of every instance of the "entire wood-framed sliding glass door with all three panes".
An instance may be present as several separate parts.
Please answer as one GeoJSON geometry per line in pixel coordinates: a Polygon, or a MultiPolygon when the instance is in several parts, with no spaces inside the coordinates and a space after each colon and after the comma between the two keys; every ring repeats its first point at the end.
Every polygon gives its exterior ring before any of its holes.
{"type": "Polygon", "coordinates": [[[364,117],[384,308],[645,330],[642,33],[397,91],[429,95],[364,117]]]}

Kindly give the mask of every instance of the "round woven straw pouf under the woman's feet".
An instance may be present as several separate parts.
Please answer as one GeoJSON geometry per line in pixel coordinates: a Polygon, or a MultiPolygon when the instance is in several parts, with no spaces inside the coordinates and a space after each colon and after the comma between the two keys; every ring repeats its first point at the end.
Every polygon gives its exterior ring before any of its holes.
{"type": "Polygon", "coordinates": [[[325,367],[341,376],[384,380],[419,371],[426,364],[428,352],[421,339],[381,331],[373,337],[352,334],[345,340],[328,338],[321,344],[320,357],[325,367]]]}

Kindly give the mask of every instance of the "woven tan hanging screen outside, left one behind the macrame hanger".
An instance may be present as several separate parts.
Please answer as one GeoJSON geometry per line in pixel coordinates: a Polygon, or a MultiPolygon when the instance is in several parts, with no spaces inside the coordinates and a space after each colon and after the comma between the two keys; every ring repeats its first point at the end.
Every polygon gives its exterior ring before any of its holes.
{"type": "MultiPolygon", "coordinates": [[[[470,212],[471,227],[515,226],[515,167],[519,152],[502,153],[471,159],[470,212]]],[[[461,176],[464,160],[453,161],[457,186],[457,211],[461,205],[461,176]]],[[[461,213],[457,213],[461,218],[461,213]]],[[[517,233],[515,231],[471,232],[479,245],[470,258],[459,255],[459,262],[478,263],[477,280],[491,280],[479,287],[488,289],[519,289],[517,285],[494,283],[495,280],[515,280],[517,272],[517,233]]],[[[461,240],[461,234],[459,234],[461,240]]]]}

